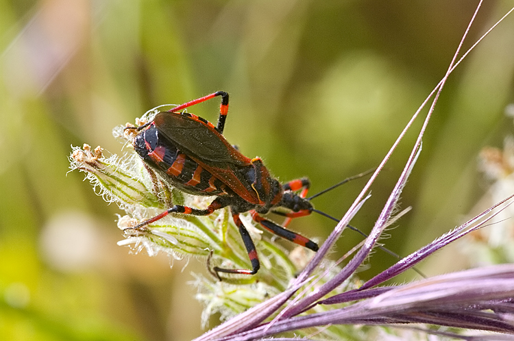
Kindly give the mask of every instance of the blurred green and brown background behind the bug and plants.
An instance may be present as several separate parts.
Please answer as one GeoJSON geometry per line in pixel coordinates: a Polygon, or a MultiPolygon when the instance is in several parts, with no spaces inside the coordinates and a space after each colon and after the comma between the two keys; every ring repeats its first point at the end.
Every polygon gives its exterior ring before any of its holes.
{"type": "MultiPolygon", "coordinates": [[[[282,181],[310,177],[318,192],[380,163],[443,77],[476,3],[0,0],[0,339],[201,333],[188,281],[206,273],[205,260],[170,269],[163,255],[118,247],[121,211],[83,174],[66,175],[70,145],[119,153],[112,127],[225,90],[228,140],[282,181]]],[[[486,1],[465,48],[513,5],[486,1]]],[[[389,231],[389,249],[406,255],[437,238],[487,188],[476,155],[513,130],[504,116],[514,101],[513,32],[510,17],[450,77],[402,195],[413,211],[389,231]]],[[[219,102],[211,102],[190,111],[216,121],[219,102]]],[[[371,229],[415,137],[400,145],[353,225],[371,229]]],[[[340,218],[364,183],[315,206],[340,218]]],[[[320,216],[291,224],[321,241],[333,227],[320,216]]],[[[359,240],[345,232],[334,259],[359,240]]],[[[360,275],[393,262],[378,251],[360,275]]],[[[421,268],[458,267],[437,262],[421,268]]]]}

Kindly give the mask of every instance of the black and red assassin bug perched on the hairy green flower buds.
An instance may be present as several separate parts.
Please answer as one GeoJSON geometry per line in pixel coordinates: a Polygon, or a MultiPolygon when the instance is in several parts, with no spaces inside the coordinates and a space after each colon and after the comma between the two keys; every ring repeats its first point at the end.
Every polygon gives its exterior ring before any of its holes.
{"type": "Polygon", "coordinates": [[[286,226],[291,218],[313,212],[313,205],[306,199],[310,181],[302,178],[280,184],[278,179],[270,175],[260,158],[250,159],[239,152],[223,136],[227,114],[228,93],[218,91],[178,105],[168,112],[159,112],[154,121],[140,127],[125,128],[138,131],[132,140],[134,149],[143,162],[165,181],[169,181],[171,186],[189,194],[216,197],[205,210],[173,205],[133,229],[145,227],[168,214],[206,216],[223,207],[230,207],[252,269],[215,267],[213,270],[216,275],[254,275],[260,268],[255,244],[239,217],[243,212],[250,212],[252,218],[271,233],[317,251],[318,245],[312,240],[260,216],[285,208],[288,212],[280,214],[287,217],[284,223],[286,226]],[[214,97],[221,97],[217,126],[204,118],[184,112],[185,108],[214,97]]]}

